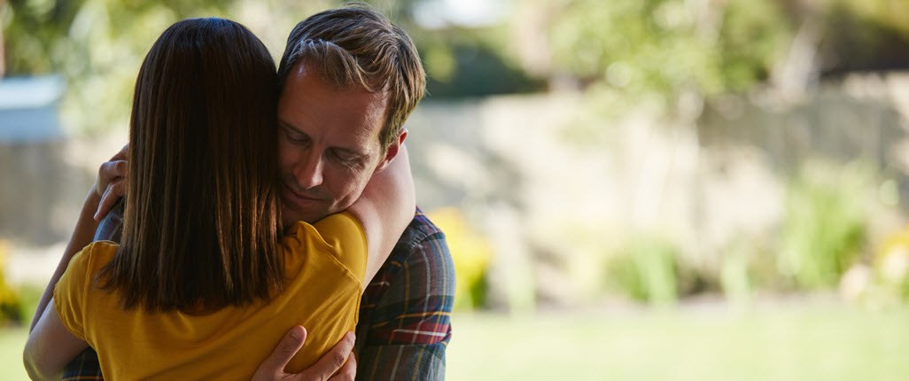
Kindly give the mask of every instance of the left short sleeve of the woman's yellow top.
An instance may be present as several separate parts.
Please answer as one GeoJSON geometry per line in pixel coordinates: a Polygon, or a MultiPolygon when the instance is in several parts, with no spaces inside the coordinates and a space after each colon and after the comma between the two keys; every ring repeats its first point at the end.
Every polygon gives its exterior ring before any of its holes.
{"type": "Polygon", "coordinates": [[[54,287],[54,306],[63,325],[73,336],[85,340],[85,293],[88,292],[89,260],[95,243],[85,246],[69,261],[54,287]]]}

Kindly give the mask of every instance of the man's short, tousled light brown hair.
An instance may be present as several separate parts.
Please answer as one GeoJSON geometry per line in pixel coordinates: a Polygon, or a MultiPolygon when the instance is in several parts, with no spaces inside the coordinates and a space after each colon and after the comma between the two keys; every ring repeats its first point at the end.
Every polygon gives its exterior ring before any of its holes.
{"type": "Polygon", "coordinates": [[[425,94],[426,74],[414,42],[369,5],[348,4],[297,24],[278,66],[281,90],[298,64],[315,66],[338,88],[388,92],[379,135],[383,149],[401,134],[407,116],[425,94]]]}

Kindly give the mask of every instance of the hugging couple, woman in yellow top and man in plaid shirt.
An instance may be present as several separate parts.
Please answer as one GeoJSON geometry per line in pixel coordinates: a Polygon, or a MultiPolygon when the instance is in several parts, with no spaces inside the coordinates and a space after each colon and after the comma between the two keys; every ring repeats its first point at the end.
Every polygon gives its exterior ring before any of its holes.
{"type": "Polygon", "coordinates": [[[297,24],[276,69],[243,25],[171,25],[35,313],[29,376],[443,379],[454,265],[404,145],[424,93],[414,43],[367,5],[297,24]]]}

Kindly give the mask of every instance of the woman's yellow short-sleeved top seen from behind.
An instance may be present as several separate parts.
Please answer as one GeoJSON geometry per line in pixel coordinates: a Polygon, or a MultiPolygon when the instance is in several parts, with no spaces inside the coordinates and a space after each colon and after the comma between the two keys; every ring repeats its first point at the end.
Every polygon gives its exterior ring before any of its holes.
{"type": "Polygon", "coordinates": [[[285,289],[267,304],[197,316],[125,310],[119,293],[93,285],[117,245],[95,242],[76,254],[54,290],[63,324],[98,352],[111,380],[249,380],[292,326],[305,346],[287,366],[298,372],[356,326],[366,267],[366,236],[353,216],[298,222],[281,241],[285,289]]]}

